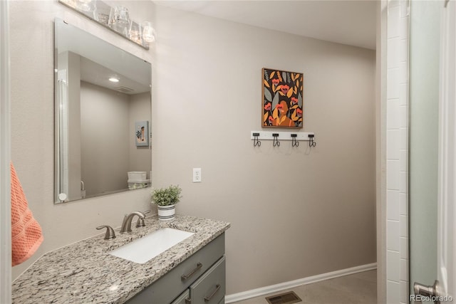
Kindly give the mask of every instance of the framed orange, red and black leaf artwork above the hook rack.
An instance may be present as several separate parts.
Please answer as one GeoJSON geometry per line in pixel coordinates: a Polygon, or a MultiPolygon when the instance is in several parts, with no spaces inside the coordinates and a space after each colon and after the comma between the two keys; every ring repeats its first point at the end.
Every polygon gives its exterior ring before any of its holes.
{"type": "Polygon", "coordinates": [[[263,127],[303,127],[303,73],[262,70],[263,127]]]}

